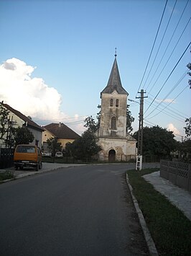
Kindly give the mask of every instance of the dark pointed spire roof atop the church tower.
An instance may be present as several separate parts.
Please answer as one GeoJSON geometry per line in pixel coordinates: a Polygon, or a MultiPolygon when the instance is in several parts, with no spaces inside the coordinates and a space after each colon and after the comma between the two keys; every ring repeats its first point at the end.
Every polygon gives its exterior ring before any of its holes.
{"type": "Polygon", "coordinates": [[[118,71],[118,65],[117,65],[117,60],[116,60],[116,55],[115,55],[115,60],[113,62],[113,67],[111,69],[111,74],[108,79],[108,84],[105,89],[103,89],[102,93],[112,93],[116,90],[118,94],[127,94],[126,90],[122,87],[121,84],[121,79],[118,71]]]}

